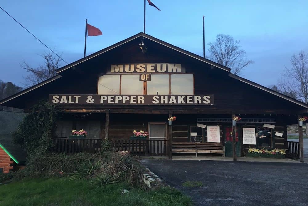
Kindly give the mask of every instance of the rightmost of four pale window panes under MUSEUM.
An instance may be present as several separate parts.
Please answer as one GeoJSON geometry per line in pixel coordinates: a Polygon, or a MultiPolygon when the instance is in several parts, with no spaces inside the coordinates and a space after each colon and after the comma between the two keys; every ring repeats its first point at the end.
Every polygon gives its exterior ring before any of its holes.
{"type": "Polygon", "coordinates": [[[172,74],[171,94],[193,95],[193,74],[172,74]]]}

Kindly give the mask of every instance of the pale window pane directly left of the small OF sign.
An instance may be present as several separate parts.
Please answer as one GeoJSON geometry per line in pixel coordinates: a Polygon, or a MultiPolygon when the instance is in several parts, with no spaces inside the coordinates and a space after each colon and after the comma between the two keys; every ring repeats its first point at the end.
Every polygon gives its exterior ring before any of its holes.
{"type": "Polygon", "coordinates": [[[139,74],[123,74],[121,79],[121,95],[142,95],[143,82],[139,74]]]}

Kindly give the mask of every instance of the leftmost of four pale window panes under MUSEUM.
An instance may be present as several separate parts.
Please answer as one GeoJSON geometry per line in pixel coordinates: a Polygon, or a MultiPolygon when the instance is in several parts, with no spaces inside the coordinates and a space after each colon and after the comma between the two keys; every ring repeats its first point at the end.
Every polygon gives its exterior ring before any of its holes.
{"type": "Polygon", "coordinates": [[[98,95],[116,95],[120,94],[120,75],[107,74],[98,79],[98,95]]]}

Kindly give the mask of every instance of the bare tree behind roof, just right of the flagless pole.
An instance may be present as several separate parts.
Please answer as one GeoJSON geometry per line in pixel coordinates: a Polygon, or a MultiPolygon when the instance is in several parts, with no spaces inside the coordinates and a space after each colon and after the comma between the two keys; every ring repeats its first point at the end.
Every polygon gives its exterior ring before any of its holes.
{"type": "Polygon", "coordinates": [[[240,40],[234,40],[230,35],[217,34],[216,41],[208,44],[210,46],[208,58],[229,67],[233,74],[241,74],[244,67],[254,62],[247,60],[246,52],[239,44],[240,40]]]}

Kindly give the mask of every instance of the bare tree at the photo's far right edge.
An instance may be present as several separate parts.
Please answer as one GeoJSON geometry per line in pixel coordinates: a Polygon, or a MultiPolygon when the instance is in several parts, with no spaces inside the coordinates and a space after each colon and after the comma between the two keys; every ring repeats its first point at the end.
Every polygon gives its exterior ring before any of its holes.
{"type": "MultiPolygon", "coordinates": [[[[308,104],[308,53],[300,51],[291,59],[291,67],[285,67],[285,73],[279,80],[279,87],[287,93],[294,93],[296,98],[308,104]]],[[[306,135],[308,136],[308,124],[306,135]]]]}

